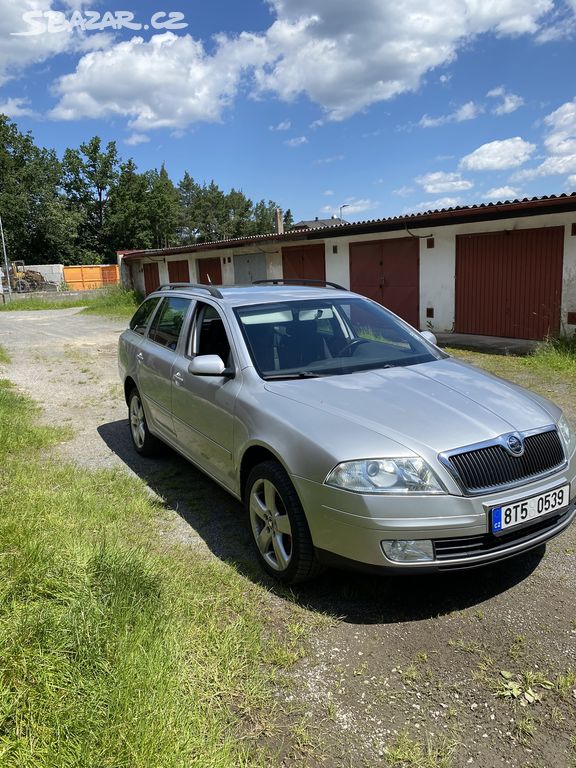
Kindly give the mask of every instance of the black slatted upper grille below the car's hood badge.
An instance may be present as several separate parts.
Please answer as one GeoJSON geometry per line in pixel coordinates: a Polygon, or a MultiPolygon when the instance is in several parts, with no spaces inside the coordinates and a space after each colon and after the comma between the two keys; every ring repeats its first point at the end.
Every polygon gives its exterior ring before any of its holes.
{"type": "Polygon", "coordinates": [[[564,450],[555,429],[524,438],[522,456],[494,444],[447,457],[452,472],[468,493],[499,488],[547,474],[564,464],[564,450]]]}

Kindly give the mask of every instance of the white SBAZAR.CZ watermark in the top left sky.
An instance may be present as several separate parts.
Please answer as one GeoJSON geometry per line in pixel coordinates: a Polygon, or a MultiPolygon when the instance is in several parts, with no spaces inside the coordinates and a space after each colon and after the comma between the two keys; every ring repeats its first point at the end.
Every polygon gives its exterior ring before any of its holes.
{"type": "Polygon", "coordinates": [[[174,31],[184,29],[188,24],[180,11],[158,11],[146,22],[136,21],[132,11],[73,11],[66,16],[63,11],[26,11],[22,14],[28,29],[23,32],[11,32],[12,35],[30,36],[48,33],[102,32],[107,29],[132,29],[135,31],[155,29],[174,31]]]}

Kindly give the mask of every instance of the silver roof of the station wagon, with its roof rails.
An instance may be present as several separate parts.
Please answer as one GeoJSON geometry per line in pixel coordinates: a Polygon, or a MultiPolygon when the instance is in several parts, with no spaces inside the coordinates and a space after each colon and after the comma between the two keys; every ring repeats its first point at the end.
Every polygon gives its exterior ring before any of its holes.
{"type": "Polygon", "coordinates": [[[345,288],[332,288],[309,285],[195,285],[171,283],[161,286],[155,295],[167,293],[195,297],[210,297],[229,306],[239,307],[252,304],[267,304],[279,301],[298,301],[303,299],[333,299],[356,296],[345,288]]]}

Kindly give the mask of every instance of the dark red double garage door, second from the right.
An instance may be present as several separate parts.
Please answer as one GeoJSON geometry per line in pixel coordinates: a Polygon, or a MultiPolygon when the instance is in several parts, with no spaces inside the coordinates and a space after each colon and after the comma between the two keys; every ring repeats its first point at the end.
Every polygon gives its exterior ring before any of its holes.
{"type": "Polygon", "coordinates": [[[412,237],[350,243],[350,288],[419,327],[420,245],[412,237]]]}

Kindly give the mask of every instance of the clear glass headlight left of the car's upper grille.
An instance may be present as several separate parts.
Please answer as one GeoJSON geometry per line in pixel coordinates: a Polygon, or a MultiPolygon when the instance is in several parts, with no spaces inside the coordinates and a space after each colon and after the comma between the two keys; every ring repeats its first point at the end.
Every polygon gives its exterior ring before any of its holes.
{"type": "Polygon", "coordinates": [[[355,493],[446,493],[419,456],[345,461],[324,482],[355,493]]]}

